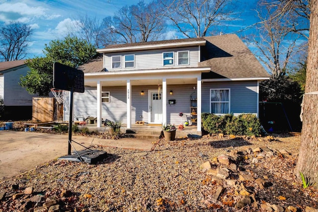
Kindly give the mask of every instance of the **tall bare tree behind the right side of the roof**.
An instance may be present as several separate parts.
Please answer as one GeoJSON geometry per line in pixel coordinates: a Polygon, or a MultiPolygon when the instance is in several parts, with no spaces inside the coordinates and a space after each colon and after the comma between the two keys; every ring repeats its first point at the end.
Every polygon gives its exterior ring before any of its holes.
{"type": "Polygon", "coordinates": [[[307,24],[309,20],[296,12],[291,1],[261,1],[257,11],[260,22],[255,27],[258,36],[247,39],[255,45],[258,59],[274,77],[284,75],[292,60],[307,50],[306,24],[296,29],[299,25],[296,20],[307,24]]]}

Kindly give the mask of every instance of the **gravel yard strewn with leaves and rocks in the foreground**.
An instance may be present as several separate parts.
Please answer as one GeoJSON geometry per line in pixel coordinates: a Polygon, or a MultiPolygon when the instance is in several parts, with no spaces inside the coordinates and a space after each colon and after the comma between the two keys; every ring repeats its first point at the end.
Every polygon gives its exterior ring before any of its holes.
{"type": "Polygon", "coordinates": [[[0,211],[33,212],[52,200],[58,200],[61,211],[72,212],[264,211],[266,204],[284,210],[318,208],[318,191],[313,187],[303,189],[293,174],[299,146],[299,134],[273,135],[271,140],[218,135],[198,140],[160,140],[148,152],[95,146],[108,153],[98,164],[53,160],[0,183],[0,194],[5,192],[0,211]],[[252,149],[264,146],[272,150],[272,156],[256,157],[252,149]],[[240,171],[218,162],[219,155],[241,149],[250,153],[236,162],[240,171]],[[279,153],[283,149],[289,154],[279,153]],[[200,168],[207,161],[214,170],[229,168],[230,175],[220,180],[207,174],[200,168]],[[241,180],[241,173],[263,179],[264,187],[254,180],[241,180]],[[234,184],[229,185],[229,180],[234,184]],[[220,186],[223,191],[215,199],[220,186]],[[33,188],[32,194],[11,198],[27,187],[33,188]],[[245,195],[255,201],[241,208],[238,202],[245,195]],[[39,200],[32,201],[34,196],[39,200]]]}

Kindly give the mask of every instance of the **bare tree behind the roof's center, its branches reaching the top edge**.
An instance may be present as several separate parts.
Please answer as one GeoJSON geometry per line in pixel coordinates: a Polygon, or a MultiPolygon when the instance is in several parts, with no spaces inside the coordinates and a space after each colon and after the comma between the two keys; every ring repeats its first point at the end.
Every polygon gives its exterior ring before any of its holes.
{"type": "Polygon", "coordinates": [[[204,37],[213,26],[234,20],[231,0],[160,0],[165,15],[188,38],[204,37]]]}

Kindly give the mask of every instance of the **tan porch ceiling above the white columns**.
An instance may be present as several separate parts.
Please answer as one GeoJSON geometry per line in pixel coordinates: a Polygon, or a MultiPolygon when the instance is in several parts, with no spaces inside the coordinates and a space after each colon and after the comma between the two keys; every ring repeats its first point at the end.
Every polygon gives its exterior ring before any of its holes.
{"type": "MultiPolygon", "coordinates": [[[[158,85],[162,84],[162,79],[133,79],[130,80],[132,85],[158,85]]],[[[196,84],[197,78],[169,78],[167,84],[196,84]]],[[[102,86],[126,86],[126,80],[101,81],[102,86]]],[[[85,86],[96,87],[97,82],[84,82],[85,86]]]]}

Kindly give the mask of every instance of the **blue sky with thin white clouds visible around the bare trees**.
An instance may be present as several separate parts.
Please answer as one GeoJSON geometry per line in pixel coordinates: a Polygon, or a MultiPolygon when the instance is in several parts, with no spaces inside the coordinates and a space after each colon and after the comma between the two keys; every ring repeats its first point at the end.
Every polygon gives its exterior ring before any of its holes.
{"type": "MultiPolygon", "coordinates": [[[[0,24],[8,21],[27,23],[34,29],[29,48],[29,57],[42,56],[45,44],[67,35],[67,26],[77,21],[79,15],[92,15],[102,20],[113,15],[124,5],[136,4],[139,0],[0,0],[0,24]]],[[[146,3],[150,0],[144,0],[146,3]]],[[[220,27],[223,33],[235,32],[257,22],[255,11],[257,0],[236,0],[239,11],[237,20],[220,27]]],[[[240,33],[242,36],[244,33],[240,33]]],[[[170,31],[165,39],[180,33],[170,31]]]]}

